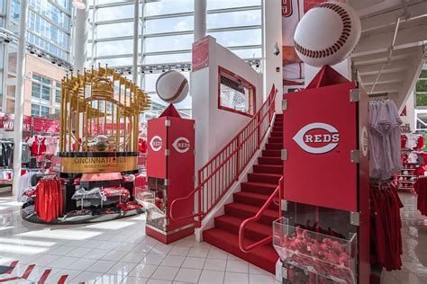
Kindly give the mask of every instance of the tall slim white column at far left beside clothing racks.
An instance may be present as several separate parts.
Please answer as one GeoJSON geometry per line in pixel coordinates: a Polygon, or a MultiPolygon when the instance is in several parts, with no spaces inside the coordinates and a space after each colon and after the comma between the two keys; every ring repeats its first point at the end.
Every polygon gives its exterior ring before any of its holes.
{"type": "Polygon", "coordinates": [[[18,57],[16,62],[16,93],[14,100],[14,180],[12,183],[12,193],[14,196],[18,194],[18,183],[21,177],[21,156],[23,154],[23,87],[25,84],[27,10],[27,0],[21,0],[18,57]]]}

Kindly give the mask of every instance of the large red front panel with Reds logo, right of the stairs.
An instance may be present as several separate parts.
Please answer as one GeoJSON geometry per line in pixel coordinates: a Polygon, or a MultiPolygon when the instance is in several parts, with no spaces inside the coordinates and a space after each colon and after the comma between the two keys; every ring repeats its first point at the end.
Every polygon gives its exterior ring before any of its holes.
{"type": "Polygon", "coordinates": [[[358,148],[356,103],[350,102],[355,88],[344,83],[286,93],[286,200],[358,210],[358,164],[350,161],[358,148]]]}

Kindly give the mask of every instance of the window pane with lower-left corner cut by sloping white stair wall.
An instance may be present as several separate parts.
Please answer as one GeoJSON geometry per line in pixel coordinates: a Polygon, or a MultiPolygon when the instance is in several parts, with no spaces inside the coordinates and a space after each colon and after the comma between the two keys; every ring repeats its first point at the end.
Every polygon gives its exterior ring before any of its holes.
{"type": "Polygon", "coordinates": [[[209,35],[213,36],[216,42],[225,47],[260,45],[262,43],[261,29],[211,32],[209,35]]]}

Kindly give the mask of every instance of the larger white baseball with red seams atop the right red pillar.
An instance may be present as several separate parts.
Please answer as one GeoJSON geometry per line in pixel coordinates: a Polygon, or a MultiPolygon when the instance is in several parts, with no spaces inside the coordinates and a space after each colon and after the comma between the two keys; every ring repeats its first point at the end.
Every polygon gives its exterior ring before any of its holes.
{"type": "Polygon", "coordinates": [[[359,15],[344,3],[318,4],[304,14],[295,30],[295,50],[313,67],[334,65],[348,58],[360,38],[359,15]]]}

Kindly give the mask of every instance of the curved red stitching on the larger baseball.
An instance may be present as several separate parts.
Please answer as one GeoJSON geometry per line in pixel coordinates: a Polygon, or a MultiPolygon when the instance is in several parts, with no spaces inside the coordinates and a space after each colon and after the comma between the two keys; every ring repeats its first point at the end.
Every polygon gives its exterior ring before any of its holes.
{"type": "Polygon", "coordinates": [[[349,39],[351,32],[351,20],[349,13],[347,13],[347,11],[345,11],[338,4],[323,3],[318,4],[315,7],[330,9],[333,12],[338,13],[343,24],[340,39],[338,39],[337,42],[335,42],[331,47],[323,50],[305,49],[295,41],[295,49],[307,58],[325,58],[340,50],[344,46],[345,42],[349,39]]]}

